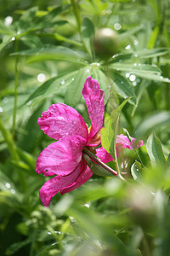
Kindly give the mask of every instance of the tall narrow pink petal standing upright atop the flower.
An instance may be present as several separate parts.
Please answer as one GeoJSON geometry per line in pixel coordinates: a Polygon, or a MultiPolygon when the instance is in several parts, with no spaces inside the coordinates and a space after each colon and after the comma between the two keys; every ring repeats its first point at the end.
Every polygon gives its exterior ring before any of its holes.
{"type": "Polygon", "coordinates": [[[86,102],[89,118],[91,119],[91,130],[88,136],[88,140],[90,140],[103,125],[105,94],[103,90],[99,89],[98,81],[88,77],[82,89],[82,96],[86,102]]]}

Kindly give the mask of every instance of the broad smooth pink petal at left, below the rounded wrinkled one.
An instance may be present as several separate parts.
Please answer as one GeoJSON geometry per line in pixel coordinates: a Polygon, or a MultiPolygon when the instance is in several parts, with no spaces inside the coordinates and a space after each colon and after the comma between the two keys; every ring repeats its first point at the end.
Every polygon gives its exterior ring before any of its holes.
{"type": "Polygon", "coordinates": [[[82,160],[86,140],[80,136],[64,137],[43,149],[37,159],[37,173],[45,176],[68,175],[82,160]]]}

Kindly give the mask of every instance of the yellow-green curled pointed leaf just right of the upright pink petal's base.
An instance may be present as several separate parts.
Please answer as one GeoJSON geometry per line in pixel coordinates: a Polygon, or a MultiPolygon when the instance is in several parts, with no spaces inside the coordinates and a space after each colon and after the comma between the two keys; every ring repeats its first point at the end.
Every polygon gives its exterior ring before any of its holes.
{"type": "Polygon", "coordinates": [[[112,158],[116,160],[116,135],[118,129],[118,122],[122,108],[127,103],[127,98],[122,104],[111,112],[111,116],[105,118],[105,125],[101,133],[101,144],[105,150],[111,154],[112,158]]]}

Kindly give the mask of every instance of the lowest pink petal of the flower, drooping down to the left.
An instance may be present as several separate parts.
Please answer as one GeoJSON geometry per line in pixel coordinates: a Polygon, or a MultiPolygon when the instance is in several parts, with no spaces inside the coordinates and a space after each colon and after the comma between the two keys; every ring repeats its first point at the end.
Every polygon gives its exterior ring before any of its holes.
{"type": "Polygon", "coordinates": [[[82,169],[82,161],[78,166],[67,176],[56,176],[44,183],[42,188],[39,191],[39,195],[44,207],[48,207],[51,198],[56,195],[59,190],[67,187],[69,184],[73,183],[82,169]]]}

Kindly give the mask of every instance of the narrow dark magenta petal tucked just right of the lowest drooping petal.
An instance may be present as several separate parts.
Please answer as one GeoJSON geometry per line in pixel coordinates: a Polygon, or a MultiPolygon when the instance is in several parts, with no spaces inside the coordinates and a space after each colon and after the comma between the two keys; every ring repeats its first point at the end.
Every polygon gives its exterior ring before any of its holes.
{"type": "Polygon", "coordinates": [[[92,177],[92,175],[94,174],[94,172],[92,172],[90,170],[90,168],[87,166],[87,164],[83,158],[82,158],[82,162],[83,162],[82,172],[79,174],[76,181],[71,183],[71,185],[67,186],[66,188],[60,190],[61,195],[71,192],[74,189],[79,188],[80,186],[82,186],[83,183],[86,183],[88,181],[88,179],[90,177],[92,177]]]}

